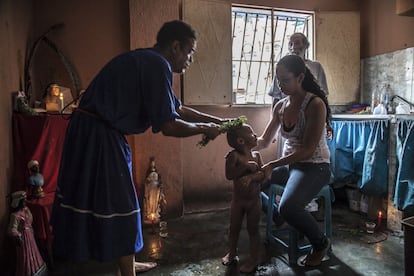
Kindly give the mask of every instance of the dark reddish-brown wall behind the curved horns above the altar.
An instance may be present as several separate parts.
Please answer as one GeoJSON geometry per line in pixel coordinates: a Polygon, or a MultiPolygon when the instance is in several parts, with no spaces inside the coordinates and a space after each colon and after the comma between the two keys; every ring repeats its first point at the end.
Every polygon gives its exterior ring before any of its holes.
{"type": "MultiPolygon", "coordinates": [[[[115,55],[129,49],[128,1],[34,1],[35,38],[57,24],[47,38],[73,64],[85,89],[101,67],[115,55]]],[[[40,43],[34,55],[33,97],[41,100],[48,83],[56,82],[75,91],[68,70],[59,55],[40,43]]]]}

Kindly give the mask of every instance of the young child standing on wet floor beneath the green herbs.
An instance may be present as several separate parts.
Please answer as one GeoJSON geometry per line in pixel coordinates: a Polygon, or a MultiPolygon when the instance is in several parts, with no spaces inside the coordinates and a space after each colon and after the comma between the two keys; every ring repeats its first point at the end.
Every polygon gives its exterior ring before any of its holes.
{"type": "Polygon", "coordinates": [[[260,182],[262,158],[258,151],[257,136],[252,128],[243,124],[227,131],[227,142],[234,148],[226,156],[226,178],[233,180],[233,200],[230,209],[229,252],[222,258],[223,265],[238,261],[237,243],[244,216],[250,239],[249,258],[240,267],[240,272],[249,273],[258,265],[260,245],[259,220],[261,213],[260,182]]]}

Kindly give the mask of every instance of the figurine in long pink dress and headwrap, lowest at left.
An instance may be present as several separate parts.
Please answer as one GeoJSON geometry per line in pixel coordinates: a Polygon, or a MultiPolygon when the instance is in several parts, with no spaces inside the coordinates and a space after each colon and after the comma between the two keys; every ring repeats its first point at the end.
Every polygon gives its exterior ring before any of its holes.
{"type": "Polygon", "coordinates": [[[8,235],[16,244],[16,276],[47,275],[47,267],[33,235],[33,216],[26,206],[26,192],[11,194],[8,235]]]}

